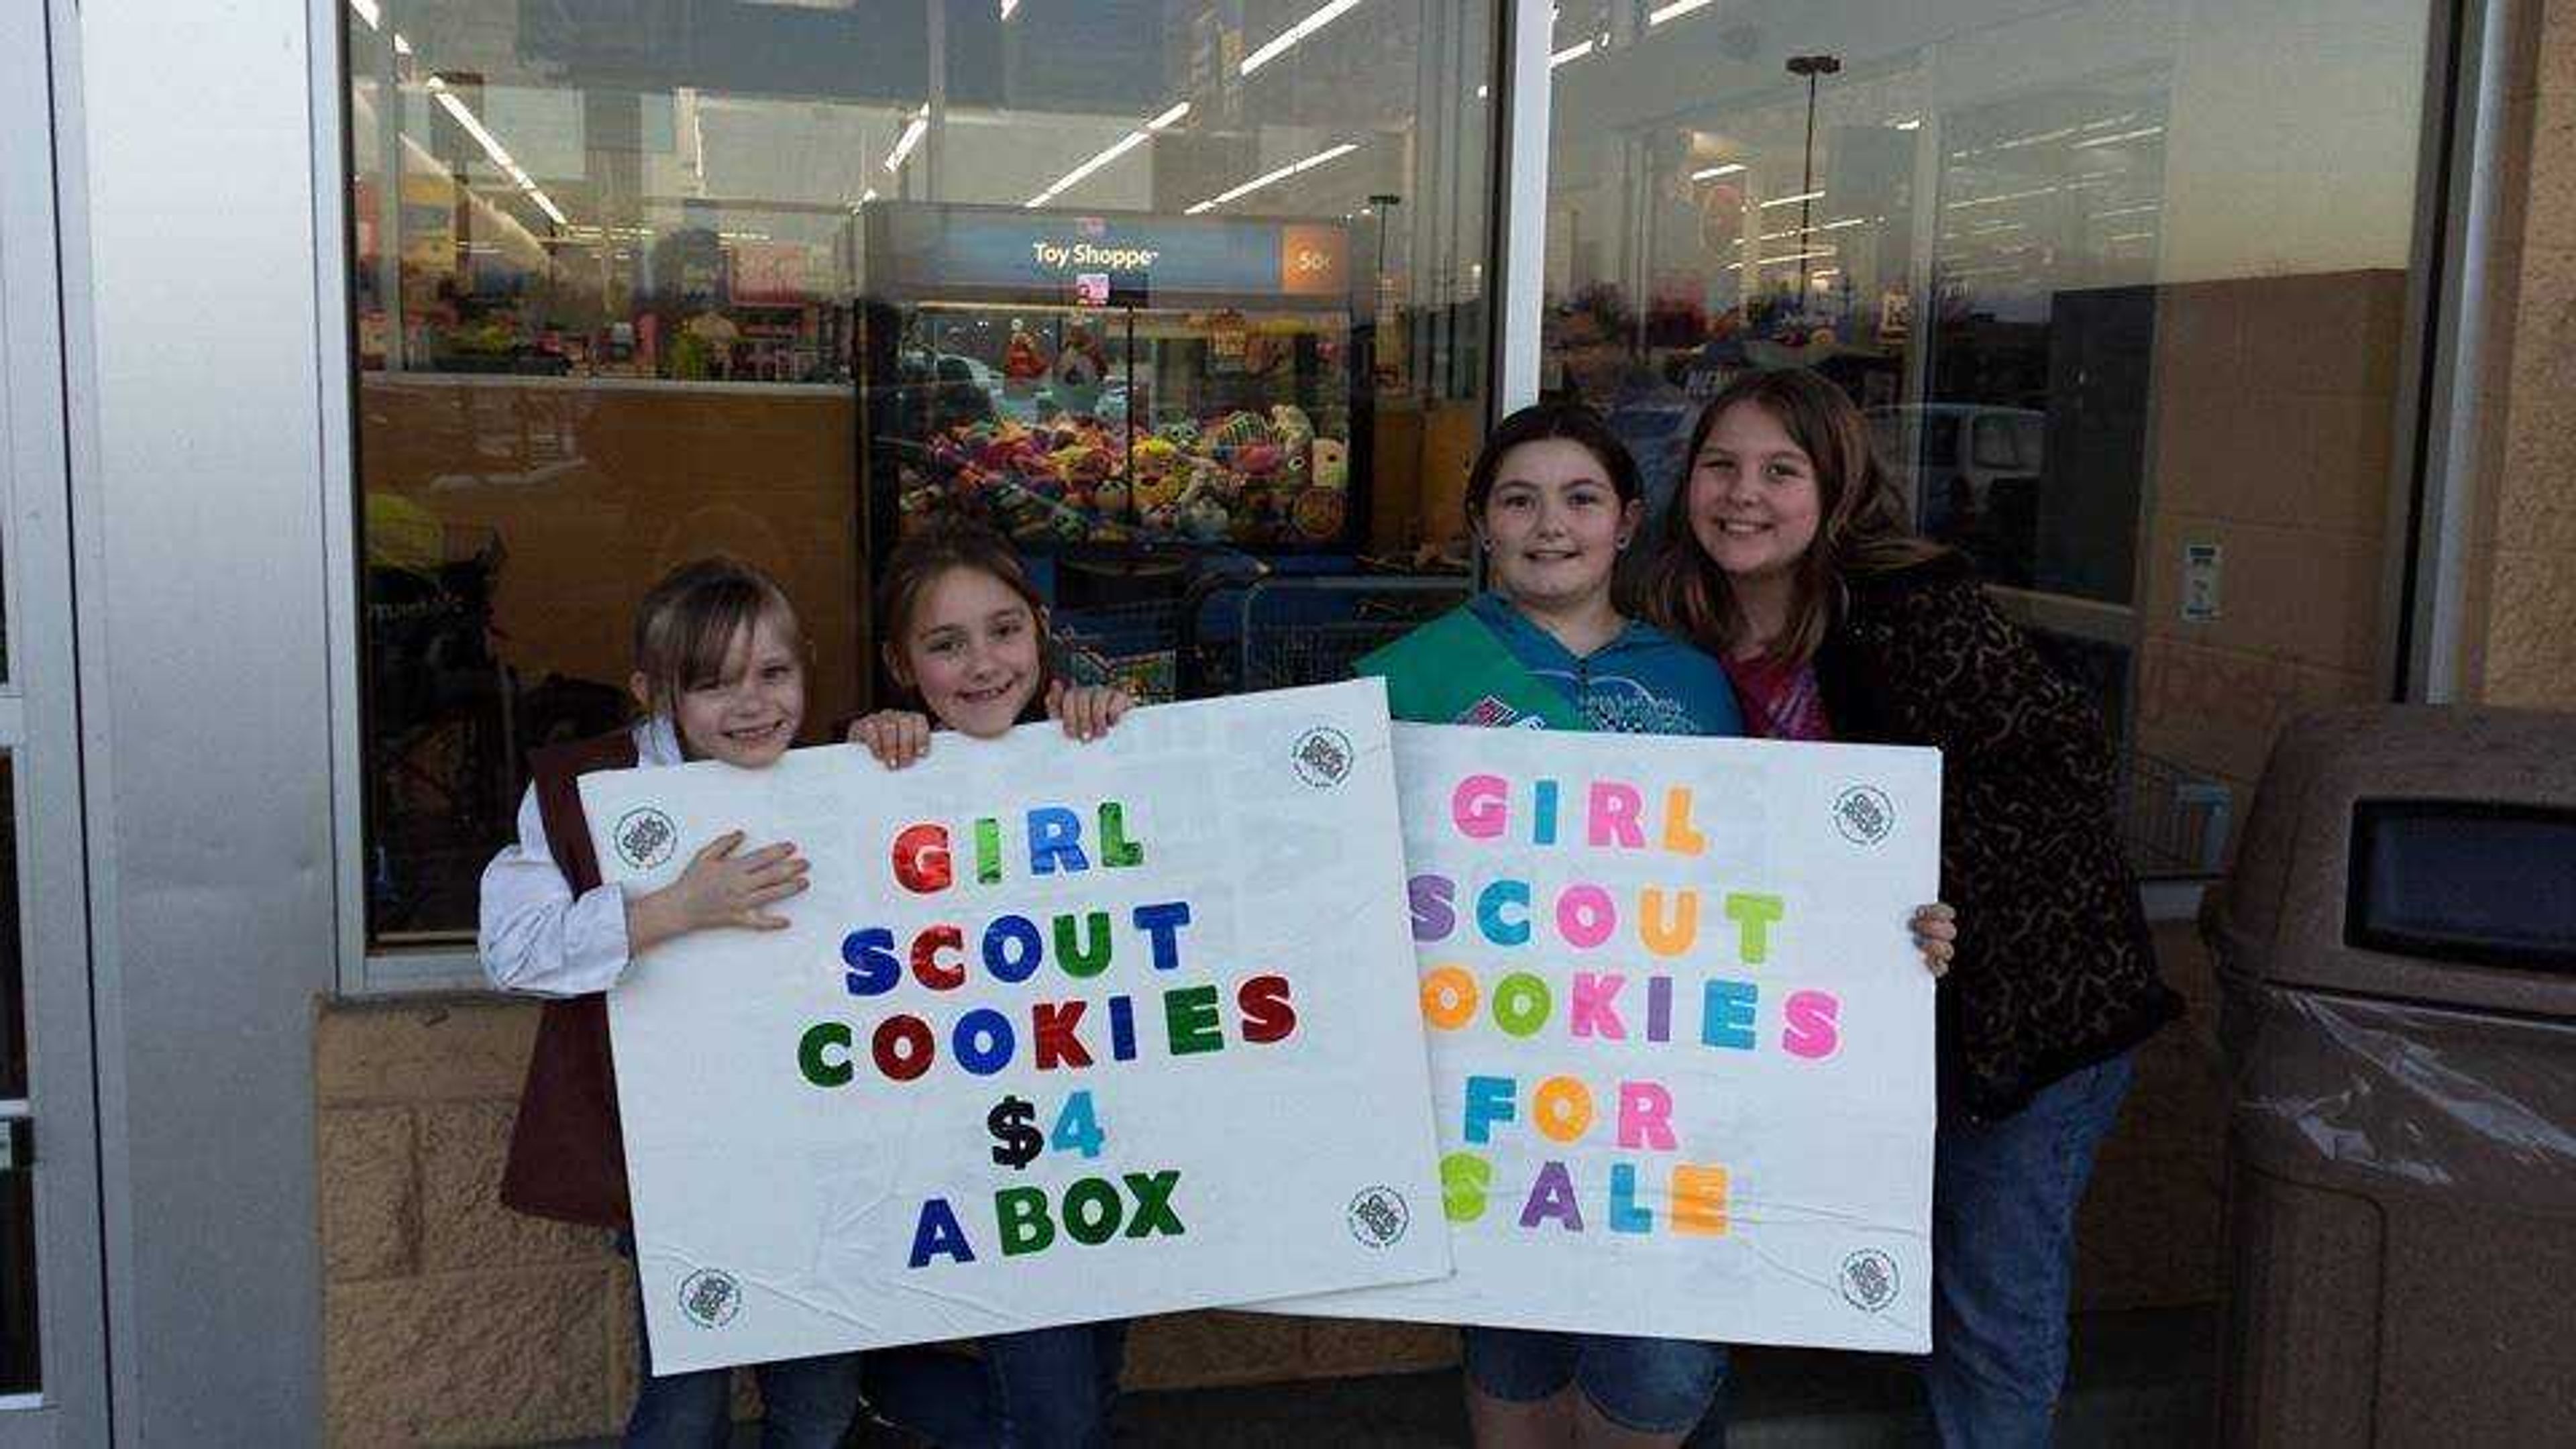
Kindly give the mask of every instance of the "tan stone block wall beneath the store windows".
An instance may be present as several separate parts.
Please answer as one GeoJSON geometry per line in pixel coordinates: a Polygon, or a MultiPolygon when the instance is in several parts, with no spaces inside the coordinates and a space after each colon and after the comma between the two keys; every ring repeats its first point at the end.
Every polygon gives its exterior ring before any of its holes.
{"type": "MultiPolygon", "coordinates": [[[[2141,1055],[2084,1209],[2079,1305],[2218,1292],[2218,1070],[2208,964],[2159,933],[2195,1021],[2141,1055]]],[[[325,1003],[314,1024],[332,1444],[611,1436],[636,1385],[634,1276],[603,1232],[500,1207],[502,1145],[536,1008],[489,995],[325,1003]]],[[[1249,1312],[1136,1325],[1126,1385],[1170,1390],[1401,1374],[1458,1361],[1455,1333],[1249,1312]]],[[[742,1405],[752,1400],[739,1385],[742,1405]]]]}

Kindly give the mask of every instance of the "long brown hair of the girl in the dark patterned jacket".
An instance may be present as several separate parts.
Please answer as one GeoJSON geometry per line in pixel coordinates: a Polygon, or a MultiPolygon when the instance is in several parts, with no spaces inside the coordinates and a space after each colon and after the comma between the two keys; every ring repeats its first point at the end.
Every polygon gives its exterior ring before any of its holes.
{"type": "MultiPolygon", "coordinates": [[[[1765,410],[1816,464],[1816,539],[1790,572],[1788,624],[1767,639],[1770,655],[1806,663],[1847,606],[1847,580],[1901,570],[1945,549],[1906,526],[1906,503],[1886,464],[1870,449],[1860,407],[1839,387],[1806,369],[1739,376],[1708,400],[1690,431],[1682,467],[1695,472],[1708,433],[1728,407],[1765,410]]],[[[1654,562],[1646,570],[1646,616],[1685,639],[1731,657],[1744,645],[1744,611],[1726,570],[1708,559],[1690,529],[1690,472],[1664,511],[1654,562]]]]}

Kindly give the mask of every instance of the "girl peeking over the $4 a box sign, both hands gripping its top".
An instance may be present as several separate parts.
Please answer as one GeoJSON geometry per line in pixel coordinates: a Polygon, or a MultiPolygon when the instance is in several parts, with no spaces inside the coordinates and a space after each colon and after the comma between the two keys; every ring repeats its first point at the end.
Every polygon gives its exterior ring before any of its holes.
{"type": "MultiPolygon", "coordinates": [[[[881,709],[850,724],[850,740],[889,768],[930,750],[933,719],[969,740],[1033,719],[1097,740],[1133,704],[1115,688],[1054,678],[1046,601],[1010,544],[979,526],[938,523],[904,539],[886,559],[876,619],[886,673],[927,709],[881,709]]],[[[868,1354],[868,1403],[951,1449],[1090,1449],[1108,1444],[1123,1354],[1123,1320],[997,1333],[981,1341],[981,1361],[884,1348],[868,1354]]]]}

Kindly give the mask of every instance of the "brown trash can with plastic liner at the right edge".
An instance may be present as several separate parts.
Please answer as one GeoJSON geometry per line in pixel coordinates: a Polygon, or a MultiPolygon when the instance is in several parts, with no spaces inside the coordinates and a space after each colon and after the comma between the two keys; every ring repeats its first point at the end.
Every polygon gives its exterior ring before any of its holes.
{"type": "Polygon", "coordinates": [[[2576,1436],[2576,714],[2290,727],[2210,895],[2228,1444],[2576,1436]]]}

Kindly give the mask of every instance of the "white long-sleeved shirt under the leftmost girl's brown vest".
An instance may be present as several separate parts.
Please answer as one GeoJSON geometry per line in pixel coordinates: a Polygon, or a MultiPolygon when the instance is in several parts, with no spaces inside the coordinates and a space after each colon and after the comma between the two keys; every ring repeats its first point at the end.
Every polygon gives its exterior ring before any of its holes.
{"type": "MultiPolygon", "coordinates": [[[[639,766],[680,763],[680,737],[670,719],[647,719],[629,735],[639,766]]],[[[626,975],[626,892],[603,884],[572,895],[564,866],[546,848],[536,786],[518,802],[518,841],[484,866],[482,931],[474,946],[500,990],[587,995],[626,975]]]]}

